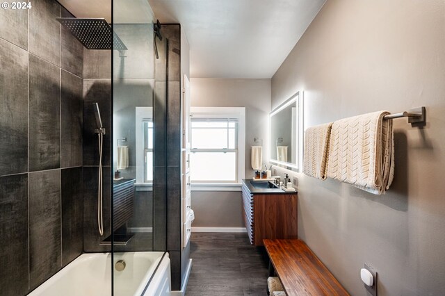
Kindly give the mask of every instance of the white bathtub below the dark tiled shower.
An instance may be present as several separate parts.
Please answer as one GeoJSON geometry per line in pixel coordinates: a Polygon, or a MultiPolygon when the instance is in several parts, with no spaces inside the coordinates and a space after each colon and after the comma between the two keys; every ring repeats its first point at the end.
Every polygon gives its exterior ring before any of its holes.
{"type": "MultiPolygon", "coordinates": [[[[114,295],[170,295],[170,258],[168,253],[162,257],[163,254],[163,252],[115,253],[113,267],[119,260],[125,261],[126,267],[121,272],[114,270],[114,295]],[[158,267],[161,259],[162,262],[158,267]],[[152,274],[154,277],[145,290],[152,274]]],[[[79,256],[29,295],[111,296],[111,253],[79,256]]]]}

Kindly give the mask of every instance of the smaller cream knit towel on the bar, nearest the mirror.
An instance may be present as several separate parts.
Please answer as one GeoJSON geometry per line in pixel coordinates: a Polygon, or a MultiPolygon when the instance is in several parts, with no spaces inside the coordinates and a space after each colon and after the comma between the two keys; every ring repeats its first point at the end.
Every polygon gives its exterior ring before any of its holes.
{"type": "Polygon", "coordinates": [[[303,172],[308,176],[325,180],[332,122],[311,126],[305,131],[303,172]]]}

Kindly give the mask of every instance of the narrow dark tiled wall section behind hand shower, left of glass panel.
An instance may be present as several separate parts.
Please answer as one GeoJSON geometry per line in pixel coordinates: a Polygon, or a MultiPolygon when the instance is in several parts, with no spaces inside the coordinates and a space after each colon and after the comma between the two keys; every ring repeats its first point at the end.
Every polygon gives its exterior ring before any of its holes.
{"type": "Polygon", "coordinates": [[[111,235],[111,51],[83,50],[83,250],[110,252],[100,245],[111,235]],[[102,147],[104,235],[97,227],[97,186],[99,145],[92,103],[99,104],[102,125],[106,129],[102,147]]]}

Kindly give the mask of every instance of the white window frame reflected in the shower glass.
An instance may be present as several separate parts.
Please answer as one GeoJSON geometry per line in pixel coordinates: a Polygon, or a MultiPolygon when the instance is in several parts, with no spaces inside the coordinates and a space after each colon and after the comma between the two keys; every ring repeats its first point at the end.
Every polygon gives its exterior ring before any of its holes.
{"type": "MultiPolygon", "coordinates": [[[[144,122],[153,120],[153,107],[136,107],[136,186],[152,190],[153,182],[145,181],[144,122]]],[[[142,190],[142,189],[140,189],[142,190]]]]}

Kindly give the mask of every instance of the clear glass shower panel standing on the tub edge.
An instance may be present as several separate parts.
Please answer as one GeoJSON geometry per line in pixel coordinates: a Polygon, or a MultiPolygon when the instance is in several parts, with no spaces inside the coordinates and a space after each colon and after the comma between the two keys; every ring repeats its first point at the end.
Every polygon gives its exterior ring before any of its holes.
{"type": "Polygon", "coordinates": [[[113,31],[127,47],[113,50],[113,295],[141,295],[153,251],[165,252],[154,248],[154,220],[165,223],[154,214],[154,15],[148,1],[113,6],[113,31]]]}

